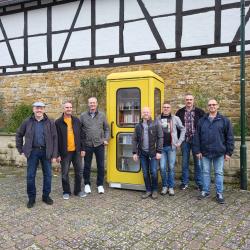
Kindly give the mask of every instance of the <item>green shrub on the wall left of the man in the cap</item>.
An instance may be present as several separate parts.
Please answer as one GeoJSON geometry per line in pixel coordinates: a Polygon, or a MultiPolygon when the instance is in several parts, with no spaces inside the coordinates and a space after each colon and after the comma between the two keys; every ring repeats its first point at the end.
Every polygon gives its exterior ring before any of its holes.
{"type": "Polygon", "coordinates": [[[24,119],[32,114],[31,105],[19,104],[15,106],[14,110],[10,114],[10,117],[7,122],[6,132],[16,132],[18,127],[21,125],[24,119]]]}

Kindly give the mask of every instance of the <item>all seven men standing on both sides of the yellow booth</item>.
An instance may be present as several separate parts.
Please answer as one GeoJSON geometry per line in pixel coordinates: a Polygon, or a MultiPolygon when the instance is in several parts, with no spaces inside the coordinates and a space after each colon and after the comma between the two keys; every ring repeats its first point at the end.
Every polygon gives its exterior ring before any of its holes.
{"type": "MultiPolygon", "coordinates": [[[[16,133],[16,147],[27,158],[27,207],[36,202],[35,178],[39,162],[43,172],[42,201],[53,204],[50,197],[51,163],[61,164],[63,199],[71,195],[69,168],[74,168],[74,195],[85,197],[91,193],[90,172],[93,154],[97,162],[98,193],[104,193],[104,147],[108,145],[109,126],[104,113],[98,111],[95,97],[88,99],[89,110],[80,119],[72,115],[70,101],[63,104],[63,114],[55,122],[45,114],[43,102],[33,103],[33,115],[28,117],[16,133]],[[84,158],[84,168],[82,164],[84,158]],[[82,177],[84,191],[81,190],[82,177]]],[[[182,182],[189,184],[190,152],[194,160],[194,177],[199,199],[210,195],[210,167],[215,173],[216,199],[224,203],[223,167],[234,150],[234,137],[230,121],[218,112],[216,100],[208,101],[208,113],[194,106],[194,97],[185,96],[185,107],[171,113],[171,105],[164,102],[162,113],[152,120],[150,109],[142,109],[141,122],[135,126],[133,159],[140,160],[146,192],[142,198],[158,196],[158,162],[162,178],[161,194],[175,195],[176,151],[182,151],[182,182]]]]}

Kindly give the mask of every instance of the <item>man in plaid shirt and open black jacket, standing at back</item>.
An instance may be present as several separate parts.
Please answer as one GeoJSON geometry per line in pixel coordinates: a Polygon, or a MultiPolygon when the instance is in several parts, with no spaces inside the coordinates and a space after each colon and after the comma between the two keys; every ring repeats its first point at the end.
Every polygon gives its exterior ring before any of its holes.
{"type": "Polygon", "coordinates": [[[196,158],[193,146],[193,137],[196,131],[198,121],[205,112],[194,106],[194,97],[191,94],[185,96],[185,107],[179,109],[176,116],[179,116],[182,124],[185,126],[186,134],[185,140],[181,144],[182,152],[182,183],[180,185],[181,190],[185,190],[189,183],[189,158],[190,151],[193,154],[194,160],[194,179],[199,190],[202,190],[202,178],[201,178],[201,165],[200,161],[196,158]]]}

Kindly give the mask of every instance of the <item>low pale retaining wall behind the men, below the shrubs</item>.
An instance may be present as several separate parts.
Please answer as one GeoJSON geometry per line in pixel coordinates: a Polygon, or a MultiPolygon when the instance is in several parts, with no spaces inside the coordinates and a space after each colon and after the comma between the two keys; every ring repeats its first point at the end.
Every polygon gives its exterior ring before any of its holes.
{"type": "MultiPolygon", "coordinates": [[[[20,156],[15,148],[15,135],[14,134],[0,134],[0,167],[9,166],[25,167],[26,159],[20,156]]],[[[240,181],[240,138],[236,138],[236,149],[230,161],[225,163],[225,182],[239,183],[240,181]]],[[[192,160],[192,157],[190,157],[192,160]]],[[[95,163],[95,161],[93,161],[95,163]]],[[[191,163],[192,164],[192,163],[191,163]]],[[[247,139],[247,166],[248,166],[248,183],[250,183],[250,138],[247,139]]],[[[58,164],[54,164],[58,168],[58,164]]],[[[94,166],[95,168],[95,166],[94,166]]],[[[190,168],[191,176],[193,176],[193,167],[190,168]]],[[[181,175],[181,155],[178,152],[176,163],[176,177],[181,175]]],[[[248,185],[250,189],[250,184],[248,185]]]]}

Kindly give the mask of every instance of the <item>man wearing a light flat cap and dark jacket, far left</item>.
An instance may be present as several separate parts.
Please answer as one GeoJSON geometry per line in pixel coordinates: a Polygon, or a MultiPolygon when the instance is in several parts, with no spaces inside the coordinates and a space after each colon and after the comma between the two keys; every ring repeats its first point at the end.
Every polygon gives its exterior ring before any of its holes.
{"type": "Polygon", "coordinates": [[[51,192],[51,162],[57,157],[57,132],[55,123],[45,114],[43,102],[33,103],[33,115],[28,117],[16,133],[16,147],[21,155],[27,158],[27,194],[28,208],[36,202],[36,171],[39,161],[43,171],[42,201],[48,205],[53,204],[51,192]],[[25,140],[23,140],[25,138],[25,140]]]}

